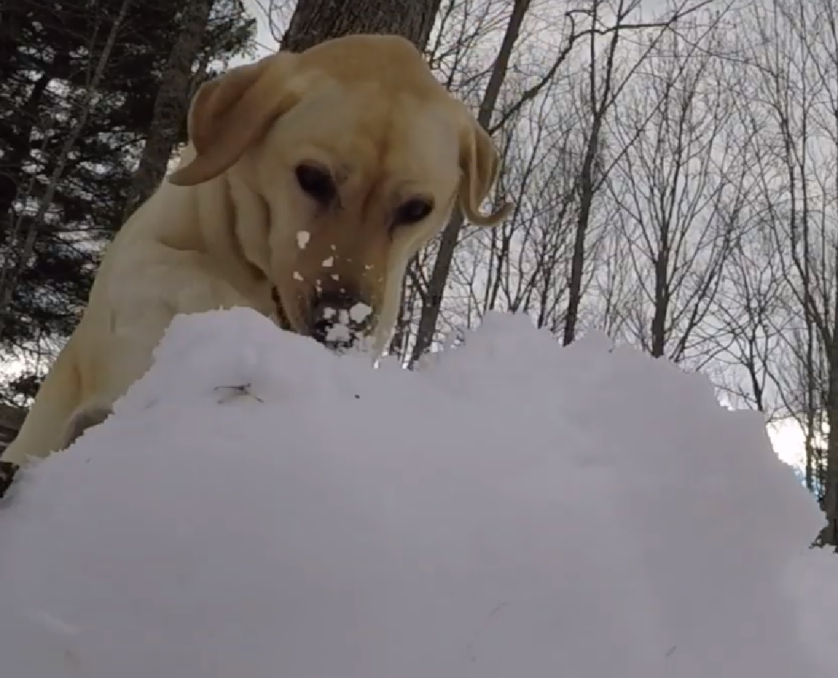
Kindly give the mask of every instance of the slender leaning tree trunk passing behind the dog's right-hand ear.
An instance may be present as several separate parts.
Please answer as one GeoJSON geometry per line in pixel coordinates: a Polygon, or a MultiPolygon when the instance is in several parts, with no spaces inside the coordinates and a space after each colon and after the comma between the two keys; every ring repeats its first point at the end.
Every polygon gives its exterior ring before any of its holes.
{"type": "MultiPolygon", "coordinates": [[[[498,102],[500,87],[506,79],[512,50],[518,40],[521,24],[524,22],[524,17],[529,8],[530,0],[515,0],[515,7],[512,8],[504,39],[500,44],[498,58],[492,67],[492,75],[489,77],[489,84],[486,86],[483,101],[480,102],[477,119],[478,123],[483,125],[485,129],[489,129],[492,113],[498,102]]],[[[451,270],[454,249],[457,247],[463,222],[463,214],[458,210],[454,213],[448,227],[442,232],[437,259],[433,263],[431,279],[428,282],[425,303],[422,304],[422,314],[419,316],[419,328],[416,331],[416,343],[413,344],[413,351],[411,352],[411,364],[422,357],[422,353],[426,352],[433,342],[439,311],[442,308],[442,297],[445,294],[448,272],[451,270]]]]}

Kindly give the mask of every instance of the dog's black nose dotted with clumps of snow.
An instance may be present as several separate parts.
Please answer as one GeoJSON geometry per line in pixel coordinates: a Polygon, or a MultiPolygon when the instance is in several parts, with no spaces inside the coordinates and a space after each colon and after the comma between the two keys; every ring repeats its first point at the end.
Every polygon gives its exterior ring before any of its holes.
{"type": "Polygon", "coordinates": [[[323,291],[312,306],[311,336],[331,349],[352,347],[365,336],[371,311],[354,290],[323,291]]]}

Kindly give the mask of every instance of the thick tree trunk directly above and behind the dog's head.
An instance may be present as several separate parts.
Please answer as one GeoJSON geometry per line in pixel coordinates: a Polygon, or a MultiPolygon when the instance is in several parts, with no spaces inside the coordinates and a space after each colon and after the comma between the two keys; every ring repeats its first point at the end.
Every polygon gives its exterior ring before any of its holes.
{"type": "Polygon", "coordinates": [[[425,49],[440,0],[299,0],[282,49],[300,52],[344,35],[397,34],[425,49]]]}

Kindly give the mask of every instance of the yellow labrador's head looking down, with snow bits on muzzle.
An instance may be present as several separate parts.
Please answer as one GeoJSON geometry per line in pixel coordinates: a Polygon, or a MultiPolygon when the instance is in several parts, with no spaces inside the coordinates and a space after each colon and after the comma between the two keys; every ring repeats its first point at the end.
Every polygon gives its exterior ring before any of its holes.
{"type": "Polygon", "coordinates": [[[380,347],[409,259],[458,200],[477,225],[509,211],[479,211],[498,152],[396,36],[348,36],[232,69],[194,96],[189,135],[194,157],[169,180],[226,172],[258,196],[261,268],[290,329],[327,345],[375,330],[380,347]]]}

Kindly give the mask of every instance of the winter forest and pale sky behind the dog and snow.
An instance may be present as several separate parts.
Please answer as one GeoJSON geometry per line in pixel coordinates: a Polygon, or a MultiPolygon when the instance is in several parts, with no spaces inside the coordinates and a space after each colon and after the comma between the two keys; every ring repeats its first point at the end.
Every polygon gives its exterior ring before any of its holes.
{"type": "Polygon", "coordinates": [[[0,401],[34,395],[200,83],[357,31],[425,50],[515,202],[411,264],[391,352],[509,310],[706,373],[804,431],[838,543],[834,0],[0,0],[0,401]]]}

